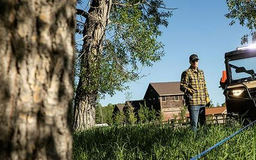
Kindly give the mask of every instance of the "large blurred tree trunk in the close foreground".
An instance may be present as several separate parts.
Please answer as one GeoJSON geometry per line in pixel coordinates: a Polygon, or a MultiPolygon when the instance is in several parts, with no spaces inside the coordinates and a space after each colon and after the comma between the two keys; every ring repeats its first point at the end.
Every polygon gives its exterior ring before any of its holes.
{"type": "Polygon", "coordinates": [[[0,0],[0,159],[71,159],[76,1],[0,0]]]}

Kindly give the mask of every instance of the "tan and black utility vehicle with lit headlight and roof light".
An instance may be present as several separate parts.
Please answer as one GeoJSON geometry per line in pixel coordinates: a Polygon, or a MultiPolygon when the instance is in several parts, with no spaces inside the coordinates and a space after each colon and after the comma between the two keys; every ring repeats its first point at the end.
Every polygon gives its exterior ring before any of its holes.
{"type": "Polygon", "coordinates": [[[224,89],[227,117],[256,119],[256,45],[225,53],[226,71],[220,81],[224,89]]]}

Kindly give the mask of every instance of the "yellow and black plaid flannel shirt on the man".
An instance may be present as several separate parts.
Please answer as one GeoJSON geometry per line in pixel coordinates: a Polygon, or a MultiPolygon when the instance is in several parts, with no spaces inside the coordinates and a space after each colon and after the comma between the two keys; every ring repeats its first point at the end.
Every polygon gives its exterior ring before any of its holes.
{"type": "Polygon", "coordinates": [[[205,99],[209,97],[209,95],[203,70],[198,68],[195,70],[190,65],[190,67],[181,74],[180,90],[185,93],[186,105],[205,105],[205,99]],[[193,96],[188,94],[189,89],[195,91],[193,96]]]}

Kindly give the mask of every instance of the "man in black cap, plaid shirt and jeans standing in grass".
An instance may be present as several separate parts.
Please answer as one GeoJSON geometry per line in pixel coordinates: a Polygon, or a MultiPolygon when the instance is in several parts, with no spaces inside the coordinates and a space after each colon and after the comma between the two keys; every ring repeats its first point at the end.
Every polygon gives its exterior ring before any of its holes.
{"type": "Polygon", "coordinates": [[[205,106],[210,105],[204,72],[198,68],[198,60],[196,54],[190,55],[190,67],[182,72],[180,80],[180,90],[185,93],[190,125],[195,132],[198,122],[205,124],[205,106]]]}

